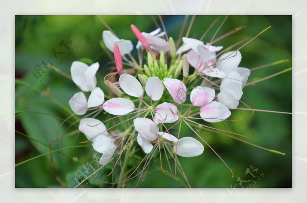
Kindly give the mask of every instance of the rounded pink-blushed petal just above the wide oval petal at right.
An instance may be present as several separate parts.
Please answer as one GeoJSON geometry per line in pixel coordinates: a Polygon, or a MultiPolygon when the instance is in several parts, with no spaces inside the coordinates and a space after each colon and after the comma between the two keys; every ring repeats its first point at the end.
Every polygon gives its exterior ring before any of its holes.
{"type": "Polygon", "coordinates": [[[215,90],[208,87],[197,86],[190,94],[190,101],[196,107],[204,106],[215,97],[215,90]]]}

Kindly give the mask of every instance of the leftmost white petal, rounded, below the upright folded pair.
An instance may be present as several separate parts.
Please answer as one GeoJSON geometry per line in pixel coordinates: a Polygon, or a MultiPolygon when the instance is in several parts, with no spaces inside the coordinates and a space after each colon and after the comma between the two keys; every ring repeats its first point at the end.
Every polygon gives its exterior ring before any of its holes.
{"type": "Polygon", "coordinates": [[[69,106],[76,115],[83,115],[87,111],[87,101],[83,92],[76,93],[70,100],[69,106]]]}

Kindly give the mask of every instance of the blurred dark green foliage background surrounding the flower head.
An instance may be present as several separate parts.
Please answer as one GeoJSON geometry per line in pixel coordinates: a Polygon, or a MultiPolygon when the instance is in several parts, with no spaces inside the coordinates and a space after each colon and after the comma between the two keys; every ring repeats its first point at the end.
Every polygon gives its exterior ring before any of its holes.
{"type": "MultiPolygon", "coordinates": [[[[217,17],[196,16],[189,37],[199,39],[217,17]]],[[[162,18],[168,36],[177,39],[185,16],[162,18]]],[[[224,16],[221,16],[218,23],[208,32],[204,42],[210,42],[223,18],[224,16]]],[[[134,45],[137,40],[130,30],[130,24],[136,25],[141,32],[151,32],[156,28],[150,16],[103,16],[103,19],[120,39],[129,39],[134,45]]],[[[155,19],[158,21],[157,16],[155,19]]],[[[190,20],[191,17],[188,22],[190,20]]],[[[220,40],[215,45],[225,48],[246,37],[251,39],[266,27],[272,26],[240,50],[241,67],[253,68],[289,59],[289,62],[253,71],[249,81],[291,67],[291,16],[229,16],[216,38],[241,25],[245,25],[246,29],[220,40]]],[[[83,58],[83,61],[99,62],[98,74],[101,75],[100,79],[103,79],[102,75],[108,70],[102,68],[110,59],[102,53],[99,41],[102,39],[103,30],[106,29],[97,16],[16,16],[16,164],[52,150],[80,145],[78,142],[84,141],[82,134],[75,139],[78,124],[66,132],[64,131],[69,123],[60,126],[63,119],[72,113],[68,101],[78,91],[75,84],[56,72],[51,71],[49,77],[45,76],[45,81],[41,81],[44,76],[37,79],[32,73],[36,65],[44,69],[41,60],[46,61],[45,57],[48,59],[51,56],[52,63],[56,65],[61,62],[58,68],[70,75],[72,62],[83,58]],[[65,44],[72,41],[66,44],[70,49],[65,45],[59,46],[61,40],[65,44]],[[74,51],[72,47],[75,47],[74,51]],[[52,49],[58,53],[66,53],[58,54],[58,59],[55,60],[52,49]],[[54,141],[63,133],[65,138],[62,142],[54,141]]],[[[136,51],[132,54],[136,55],[136,51]]],[[[242,100],[255,109],[291,112],[291,72],[259,82],[256,86],[249,85],[243,89],[242,100]]],[[[244,175],[250,165],[258,168],[257,172],[253,172],[256,177],[264,174],[254,187],[291,187],[291,115],[266,112],[255,112],[254,115],[250,115],[250,111],[232,110],[231,119],[244,120],[244,116],[246,122],[227,123],[227,130],[250,136],[251,138],[245,140],[284,152],[286,155],[271,153],[202,130],[200,134],[229,165],[235,176],[232,178],[222,161],[205,146],[201,156],[180,159],[192,187],[231,187],[239,183],[238,176],[243,180],[250,180],[251,175],[244,175]]],[[[224,128],[220,123],[210,126],[224,128]]],[[[186,127],[184,131],[186,136],[192,133],[186,127]]],[[[83,165],[90,164],[93,160],[93,150],[90,146],[66,149],[62,152],[66,156],[55,152],[52,156],[47,154],[18,166],[16,187],[76,186],[73,178],[78,170],[84,171],[83,165]]],[[[160,170],[158,159],[153,161],[153,165],[155,163],[157,167],[150,168],[139,187],[182,186],[180,181],[174,181],[160,170]]],[[[108,174],[107,170],[105,173],[104,176],[108,174]]],[[[101,180],[107,180],[104,176],[102,173],[101,180]]],[[[251,182],[243,183],[243,186],[247,187],[249,184],[251,182]]],[[[114,185],[99,181],[92,181],[87,185],[99,186],[114,185]]],[[[135,186],[135,181],[127,182],[126,187],[130,186],[135,186]]],[[[235,187],[240,186],[238,184],[235,187]]]]}

